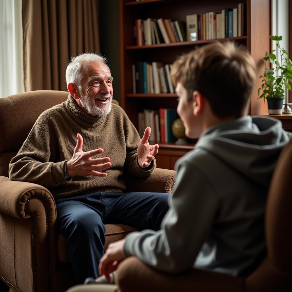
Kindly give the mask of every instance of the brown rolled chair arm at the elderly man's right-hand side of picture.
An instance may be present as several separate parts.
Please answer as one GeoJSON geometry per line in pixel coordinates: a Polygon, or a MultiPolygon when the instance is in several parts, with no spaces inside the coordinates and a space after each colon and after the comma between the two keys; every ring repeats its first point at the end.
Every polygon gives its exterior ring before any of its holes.
{"type": "Polygon", "coordinates": [[[128,192],[161,192],[171,193],[174,186],[175,171],[156,168],[147,178],[125,176],[128,192]]]}

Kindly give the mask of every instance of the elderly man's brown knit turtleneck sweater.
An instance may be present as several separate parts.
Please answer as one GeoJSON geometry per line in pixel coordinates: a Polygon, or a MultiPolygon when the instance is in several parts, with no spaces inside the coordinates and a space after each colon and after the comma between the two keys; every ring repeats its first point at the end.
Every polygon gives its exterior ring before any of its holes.
{"type": "Polygon", "coordinates": [[[67,101],[43,112],[36,120],[18,154],[9,165],[11,180],[37,183],[47,187],[55,199],[96,191],[124,192],[124,168],[130,175],[149,176],[156,168],[155,159],[149,167],[138,164],[139,134],[124,110],[112,104],[103,117],[85,114],[71,95],[67,101]],[[65,163],[72,158],[76,134],[83,137],[83,151],[102,148],[93,158],[109,157],[112,166],[102,170],[106,177],[74,176],[67,181],[65,163]]]}

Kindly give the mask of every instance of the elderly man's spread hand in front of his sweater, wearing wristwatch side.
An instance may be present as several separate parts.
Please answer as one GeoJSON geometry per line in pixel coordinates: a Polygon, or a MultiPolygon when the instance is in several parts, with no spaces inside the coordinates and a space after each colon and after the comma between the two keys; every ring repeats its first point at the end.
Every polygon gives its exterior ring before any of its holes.
{"type": "Polygon", "coordinates": [[[112,164],[109,162],[110,158],[98,158],[91,159],[92,156],[100,154],[103,149],[95,149],[88,152],[83,152],[82,150],[83,138],[80,134],[77,134],[77,144],[74,148],[74,153],[72,158],[67,161],[66,168],[69,176],[73,177],[75,175],[87,176],[106,176],[104,172],[99,172],[99,170],[110,167],[112,164]]]}

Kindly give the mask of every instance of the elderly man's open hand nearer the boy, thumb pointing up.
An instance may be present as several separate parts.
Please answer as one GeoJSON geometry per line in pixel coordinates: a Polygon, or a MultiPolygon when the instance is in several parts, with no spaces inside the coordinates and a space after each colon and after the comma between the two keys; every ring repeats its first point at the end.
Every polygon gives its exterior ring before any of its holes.
{"type": "Polygon", "coordinates": [[[157,154],[159,145],[150,145],[148,139],[150,137],[151,128],[147,127],[144,131],[144,135],[138,145],[137,154],[138,154],[138,163],[142,168],[145,168],[150,165],[151,161],[154,158],[154,155],[157,154]]]}

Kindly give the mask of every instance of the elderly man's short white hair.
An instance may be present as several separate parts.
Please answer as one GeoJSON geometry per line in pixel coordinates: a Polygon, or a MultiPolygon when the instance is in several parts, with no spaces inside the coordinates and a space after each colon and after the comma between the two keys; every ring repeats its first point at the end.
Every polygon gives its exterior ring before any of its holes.
{"type": "MultiPolygon", "coordinates": [[[[74,83],[78,86],[79,90],[81,90],[81,79],[83,78],[83,74],[81,72],[81,65],[86,62],[96,62],[101,61],[106,66],[106,58],[98,53],[83,53],[81,55],[77,55],[72,57],[66,68],[66,83],[67,87],[69,83],[74,83]]],[[[109,69],[109,67],[107,66],[109,69]]],[[[109,70],[110,73],[110,70],[109,70]]]]}

